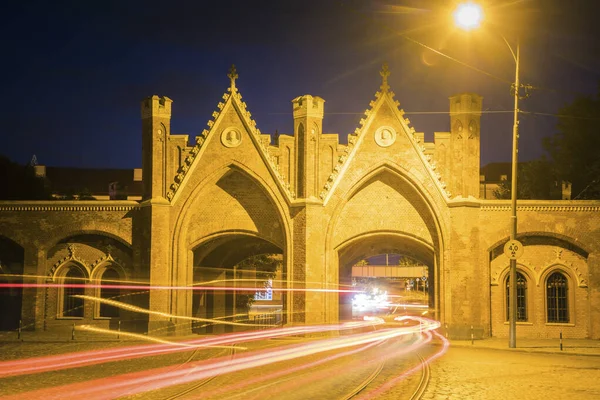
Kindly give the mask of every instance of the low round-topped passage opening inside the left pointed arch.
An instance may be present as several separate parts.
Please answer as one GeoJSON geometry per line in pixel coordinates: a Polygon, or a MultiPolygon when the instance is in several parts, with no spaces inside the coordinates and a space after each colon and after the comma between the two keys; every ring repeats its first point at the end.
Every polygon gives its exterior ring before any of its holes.
{"type": "MultiPolygon", "coordinates": [[[[255,234],[231,232],[198,245],[193,260],[194,317],[252,324],[285,322],[287,296],[278,290],[286,286],[283,249],[255,234]],[[270,269],[266,264],[278,267],[270,269]]],[[[236,329],[243,327],[211,322],[192,327],[196,333],[236,329]]]]}

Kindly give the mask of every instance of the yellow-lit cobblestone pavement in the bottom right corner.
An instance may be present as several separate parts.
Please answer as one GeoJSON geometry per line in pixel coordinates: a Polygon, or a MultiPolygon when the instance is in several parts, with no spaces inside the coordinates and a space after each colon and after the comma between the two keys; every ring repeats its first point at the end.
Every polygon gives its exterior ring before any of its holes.
{"type": "Polygon", "coordinates": [[[600,357],[451,346],[424,399],[600,399],[600,357]]]}

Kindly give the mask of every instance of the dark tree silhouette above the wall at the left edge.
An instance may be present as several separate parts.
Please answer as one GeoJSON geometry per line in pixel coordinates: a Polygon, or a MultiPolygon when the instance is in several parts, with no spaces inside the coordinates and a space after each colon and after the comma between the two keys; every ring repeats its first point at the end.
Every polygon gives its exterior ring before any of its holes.
{"type": "Polygon", "coordinates": [[[49,200],[52,198],[46,178],[37,177],[32,165],[20,165],[0,155],[0,200],[49,200]]]}

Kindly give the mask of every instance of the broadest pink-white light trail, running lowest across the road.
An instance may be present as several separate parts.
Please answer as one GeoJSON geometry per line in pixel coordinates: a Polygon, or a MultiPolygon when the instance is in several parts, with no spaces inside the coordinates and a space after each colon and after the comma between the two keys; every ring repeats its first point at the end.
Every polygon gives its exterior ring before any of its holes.
{"type": "MultiPolygon", "coordinates": [[[[40,389],[5,399],[40,398],[45,400],[63,399],[65,397],[85,397],[86,400],[112,399],[115,397],[134,395],[150,390],[189,383],[213,376],[257,368],[267,364],[292,360],[310,356],[321,352],[362,346],[369,343],[380,342],[412,335],[417,332],[437,329],[437,321],[417,318],[419,326],[388,328],[368,333],[353,334],[347,337],[337,337],[319,340],[316,342],[291,345],[283,349],[260,350],[247,353],[231,360],[229,357],[220,357],[214,360],[190,363],[186,368],[173,370],[172,367],[156,368],[135,373],[96,379],[70,385],[40,389]]],[[[409,351],[409,350],[407,350],[409,351]]]]}

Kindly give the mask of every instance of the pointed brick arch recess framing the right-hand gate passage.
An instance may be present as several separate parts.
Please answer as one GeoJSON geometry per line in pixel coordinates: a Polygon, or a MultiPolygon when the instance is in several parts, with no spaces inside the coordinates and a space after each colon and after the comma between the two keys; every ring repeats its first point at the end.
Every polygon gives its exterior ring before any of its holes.
{"type": "MultiPolygon", "coordinates": [[[[333,268],[340,288],[352,285],[352,267],[361,260],[380,254],[401,255],[425,269],[429,315],[443,318],[439,310],[444,247],[433,197],[408,173],[387,166],[354,185],[333,216],[333,268]]],[[[400,268],[397,264],[395,267],[400,268]]],[[[341,320],[351,317],[351,303],[352,296],[339,296],[341,320]]]]}

